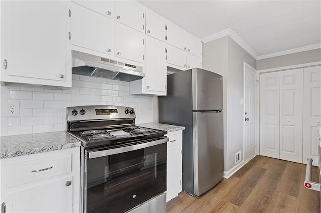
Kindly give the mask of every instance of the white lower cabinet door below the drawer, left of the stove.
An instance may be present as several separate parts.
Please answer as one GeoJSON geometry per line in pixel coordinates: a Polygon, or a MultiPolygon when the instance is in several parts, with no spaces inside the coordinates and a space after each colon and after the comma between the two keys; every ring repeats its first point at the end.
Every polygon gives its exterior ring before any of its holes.
{"type": "Polygon", "coordinates": [[[72,177],[61,178],[8,193],[4,197],[7,212],[73,212],[72,177]],[[66,186],[66,182],[71,185],[66,186]]]}

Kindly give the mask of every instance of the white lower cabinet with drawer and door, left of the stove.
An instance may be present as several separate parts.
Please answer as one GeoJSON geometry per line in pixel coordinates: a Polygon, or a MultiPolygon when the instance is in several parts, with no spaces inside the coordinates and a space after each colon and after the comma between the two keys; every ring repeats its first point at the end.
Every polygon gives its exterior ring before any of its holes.
{"type": "Polygon", "coordinates": [[[79,161],[79,147],[1,160],[6,212],[79,212],[79,161]]]}

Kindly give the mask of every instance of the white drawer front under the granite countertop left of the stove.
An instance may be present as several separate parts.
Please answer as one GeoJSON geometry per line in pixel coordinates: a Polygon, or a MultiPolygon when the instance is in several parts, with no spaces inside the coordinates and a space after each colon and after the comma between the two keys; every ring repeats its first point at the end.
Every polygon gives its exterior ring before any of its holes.
{"type": "MultiPolygon", "coordinates": [[[[32,155],[31,155],[32,156],[32,155]]],[[[13,187],[71,172],[71,154],[29,161],[7,161],[2,165],[5,187],[13,187]]],[[[4,160],[5,161],[5,160],[4,160]]]]}

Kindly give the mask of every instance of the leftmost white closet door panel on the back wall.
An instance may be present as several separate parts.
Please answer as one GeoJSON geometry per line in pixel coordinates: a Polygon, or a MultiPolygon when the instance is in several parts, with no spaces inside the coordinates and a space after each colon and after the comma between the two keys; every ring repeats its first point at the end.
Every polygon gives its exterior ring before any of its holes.
{"type": "Polygon", "coordinates": [[[260,155],[280,156],[280,72],[260,76],[260,155]]]}

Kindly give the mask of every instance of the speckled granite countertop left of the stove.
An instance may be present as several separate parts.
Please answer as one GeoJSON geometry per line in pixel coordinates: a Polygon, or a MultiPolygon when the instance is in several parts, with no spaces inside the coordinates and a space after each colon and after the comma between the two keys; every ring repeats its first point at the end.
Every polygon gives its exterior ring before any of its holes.
{"type": "Polygon", "coordinates": [[[0,159],[80,147],[81,142],[64,131],[0,137],[0,159]]]}

